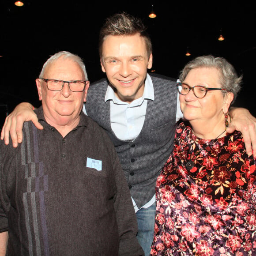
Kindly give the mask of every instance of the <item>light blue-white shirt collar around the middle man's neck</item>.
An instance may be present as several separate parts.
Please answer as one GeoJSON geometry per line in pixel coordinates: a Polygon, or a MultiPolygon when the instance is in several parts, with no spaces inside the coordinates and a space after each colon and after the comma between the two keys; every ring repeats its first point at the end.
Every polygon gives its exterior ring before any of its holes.
{"type": "MultiPolygon", "coordinates": [[[[147,74],[147,78],[145,80],[145,87],[144,92],[141,98],[136,99],[134,102],[142,102],[144,99],[149,99],[154,101],[154,87],[151,80],[151,77],[149,74],[147,74]]],[[[126,102],[120,101],[119,98],[117,98],[113,88],[111,86],[108,86],[106,94],[105,94],[105,102],[112,100],[116,104],[128,104],[126,102]]]]}

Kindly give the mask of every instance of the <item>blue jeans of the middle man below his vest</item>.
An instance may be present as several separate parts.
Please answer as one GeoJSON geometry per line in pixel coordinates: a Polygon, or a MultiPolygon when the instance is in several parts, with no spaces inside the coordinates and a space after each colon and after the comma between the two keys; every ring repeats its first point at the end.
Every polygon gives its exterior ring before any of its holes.
{"type": "Polygon", "coordinates": [[[148,208],[141,208],[136,212],[138,222],[137,239],[143,248],[145,256],[150,255],[151,244],[154,237],[154,219],[156,204],[153,203],[148,208]]]}

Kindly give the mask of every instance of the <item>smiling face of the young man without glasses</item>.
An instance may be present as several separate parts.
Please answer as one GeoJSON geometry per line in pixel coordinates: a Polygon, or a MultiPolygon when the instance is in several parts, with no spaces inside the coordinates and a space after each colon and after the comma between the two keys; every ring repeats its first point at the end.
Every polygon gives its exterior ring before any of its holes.
{"type": "Polygon", "coordinates": [[[145,39],[140,34],[109,35],[102,45],[101,65],[117,97],[130,103],[143,95],[152,54],[148,57],[145,39]]]}

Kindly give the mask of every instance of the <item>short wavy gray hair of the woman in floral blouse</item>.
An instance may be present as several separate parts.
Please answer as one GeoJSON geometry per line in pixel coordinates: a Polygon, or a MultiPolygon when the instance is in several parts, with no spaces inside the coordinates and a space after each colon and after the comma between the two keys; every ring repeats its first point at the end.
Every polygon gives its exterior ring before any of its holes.
{"type": "MultiPolygon", "coordinates": [[[[243,76],[238,76],[235,68],[224,58],[207,55],[199,56],[188,62],[180,73],[180,81],[183,82],[188,72],[193,68],[217,68],[220,72],[219,83],[221,87],[234,95],[233,102],[237,97],[237,93],[241,89],[243,76]]],[[[225,91],[223,91],[225,93],[225,91]]],[[[232,103],[233,103],[232,102],[232,103]]]]}

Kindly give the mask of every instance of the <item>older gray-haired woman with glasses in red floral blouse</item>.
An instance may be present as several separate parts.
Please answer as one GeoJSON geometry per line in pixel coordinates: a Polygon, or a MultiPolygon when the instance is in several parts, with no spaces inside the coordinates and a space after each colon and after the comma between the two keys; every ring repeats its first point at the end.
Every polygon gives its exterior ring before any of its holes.
{"type": "Polygon", "coordinates": [[[187,122],[157,180],[151,255],[256,255],[256,159],[227,134],[241,77],[223,58],[200,56],[177,83],[187,122]]]}

